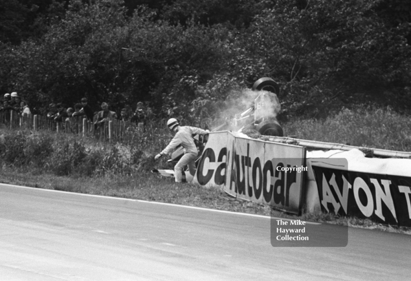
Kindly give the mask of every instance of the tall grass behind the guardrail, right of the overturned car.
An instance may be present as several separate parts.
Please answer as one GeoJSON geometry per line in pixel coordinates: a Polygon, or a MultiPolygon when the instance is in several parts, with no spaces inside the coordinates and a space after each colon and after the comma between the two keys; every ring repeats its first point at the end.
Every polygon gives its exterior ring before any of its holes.
{"type": "Polygon", "coordinates": [[[345,108],[325,120],[292,120],[283,127],[285,136],[298,139],[411,151],[410,117],[389,108],[345,108]]]}

